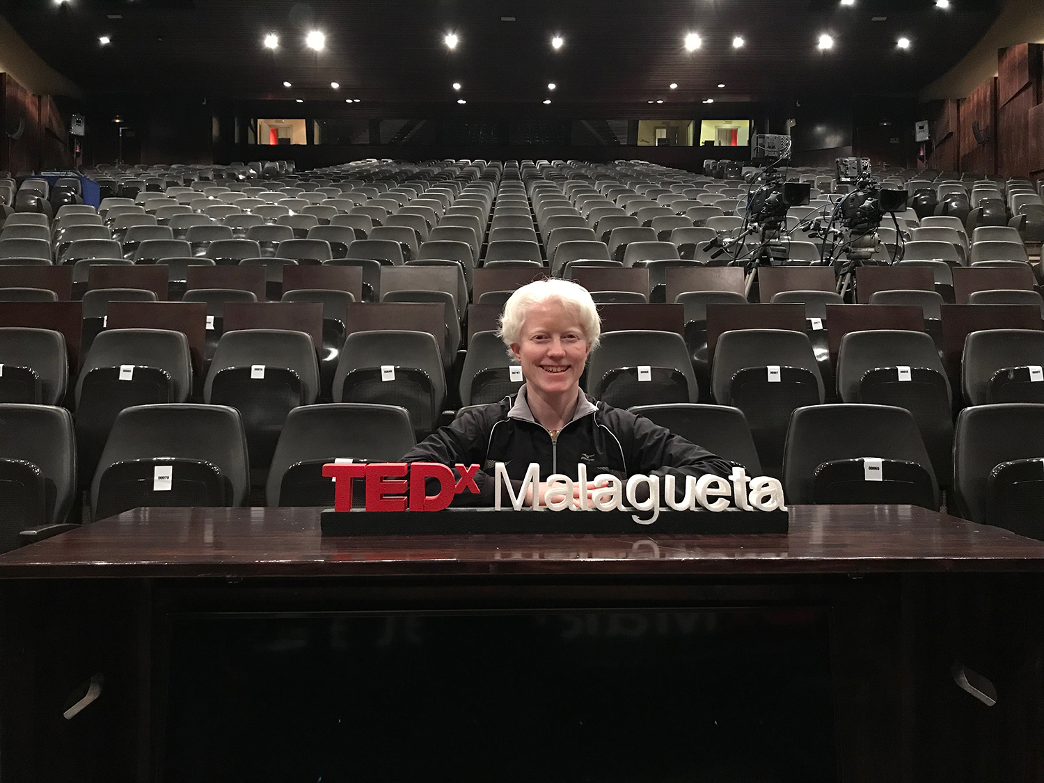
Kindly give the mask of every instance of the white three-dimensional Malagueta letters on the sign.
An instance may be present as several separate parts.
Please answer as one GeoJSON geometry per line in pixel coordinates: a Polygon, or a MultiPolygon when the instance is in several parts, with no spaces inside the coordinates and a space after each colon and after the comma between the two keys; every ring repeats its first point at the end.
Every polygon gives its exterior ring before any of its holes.
{"type": "MultiPolygon", "coordinates": [[[[576,466],[577,481],[580,487],[587,487],[587,466],[583,462],[576,466]]],[[[507,502],[515,511],[522,511],[527,493],[531,495],[531,506],[538,508],[538,487],[541,483],[540,466],[530,462],[519,487],[518,493],[507,475],[503,462],[494,464],[494,508],[503,508],[503,494],[507,494],[507,502]],[[531,492],[530,492],[531,491],[531,492]]],[[[642,519],[638,514],[632,519],[638,524],[650,525],[660,517],[660,485],[663,482],[663,497],[668,507],[675,512],[694,512],[701,506],[708,512],[720,513],[730,507],[744,512],[785,512],[783,484],[779,479],[768,476],[749,478],[740,467],[734,467],[729,478],[703,475],[685,477],[685,493],[678,499],[678,477],[666,476],[631,476],[626,483],[609,473],[600,473],[590,479],[595,489],[591,491],[588,501],[587,492],[580,492],[576,503],[573,502],[574,483],[571,478],[561,473],[552,473],[547,477],[547,490],[544,493],[544,504],[553,512],[564,511],[599,511],[599,512],[641,512],[648,515],[642,519]],[[603,484],[603,485],[601,485],[603,484]],[[643,499],[639,499],[643,498],[643,499]],[[624,502],[625,501],[625,502],[624,502]],[[734,505],[735,504],[735,505],[734,505]]]]}

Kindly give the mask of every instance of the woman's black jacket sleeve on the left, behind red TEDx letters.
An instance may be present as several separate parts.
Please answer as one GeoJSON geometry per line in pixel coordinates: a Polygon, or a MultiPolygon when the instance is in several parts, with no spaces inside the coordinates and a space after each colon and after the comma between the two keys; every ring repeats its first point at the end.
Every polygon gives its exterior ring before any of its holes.
{"type": "MultiPolygon", "coordinates": [[[[482,466],[475,474],[475,484],[478,495],[473,492],[462,492],[453,497],[452,505],[493,505],[493,476],[484,472],[485,452],[490,444],[490,433],[493,425],[501,418],[501,406],[497,403],[483,408],[467,410],[456,417],[450,424],[440,427],[417,446],[403,455],[403,462],[438,462],[453,471],[454,480],[459,480],[460,474],[456,465],[466,468],[472,465],[482,466]]],[[[428,479],[427,493],[438,492],[436,479],[428,479]]]]}

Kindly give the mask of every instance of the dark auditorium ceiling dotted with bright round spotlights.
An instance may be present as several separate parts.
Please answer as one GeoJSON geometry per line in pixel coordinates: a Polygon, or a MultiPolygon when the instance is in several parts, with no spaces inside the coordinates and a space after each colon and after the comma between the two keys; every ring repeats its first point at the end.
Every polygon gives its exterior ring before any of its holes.
{"type": "Polygon", "coordinates": [[[640,103],[909,95],[982,37],[999,0],[0,0],[89,91],[366,103],[640,103]],[[505,21],[502,18],[514,18],[505,21]],[[872,21],[878,17],[878,21],[872,21]],[[304,45],[326,33],[326,49],[304,45]],[[443,44],[454,30],[455,51],[443,44]],[[280,35],[275,52],[265,33],[280,35]],[[693,52],[687,32],[702,37],[693,52]],[[821,52],[821,32],[835,39],[821,52]],[[565,46],[552,50],[553,33],[565,46]],[[98,37],[112,37],[102,47],[98,37]],[[742,48],[732,40],[741,35],[742,48]],[[898,38],[910,49],[898,49],[898,38]],[[283,87],[288,80],[292,87],[283,87]],[[334,92],[331,81],[340,84],[334,92]],[[451,82],[462,84],[459,94],[451,82]],[[557,89],[548,93],[548,81],[557,89]],[[679,85],[670,90],[671,82],[679,85]],[[725,89],[717,88],[725,84],[725,89]]]}

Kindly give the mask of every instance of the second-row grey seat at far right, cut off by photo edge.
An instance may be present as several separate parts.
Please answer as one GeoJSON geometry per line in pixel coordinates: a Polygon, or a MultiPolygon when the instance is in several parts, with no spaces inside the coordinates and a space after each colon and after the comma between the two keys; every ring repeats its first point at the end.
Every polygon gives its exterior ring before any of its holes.
{"type": "Polygon", "coordinates": [[[960,388],[967,405],[1044,402],[1044,332],[989,329],[965,338],[960,388]]]}

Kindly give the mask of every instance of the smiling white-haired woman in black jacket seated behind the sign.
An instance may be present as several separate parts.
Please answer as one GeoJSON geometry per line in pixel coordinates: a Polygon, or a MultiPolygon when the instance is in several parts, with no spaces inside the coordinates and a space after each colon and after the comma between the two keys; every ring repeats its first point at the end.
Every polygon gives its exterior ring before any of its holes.
{"type": "MultiPolygon", "coordinates": [[[[580,390],[580,376],[601,325],[591,294],[565,280],[529,283],[512,294],[500,317],[498,335],[522,365],[525,383],[514,397],[464,411],[452,424],[418,444],[405,462],[480,465],[479,494],[461,493],[454,503],[492,505],[494,465],[503,462],[515,492],[530,462],[541,476],[561,473],[574,481],[574,502],[590,493],[577,481],[577,465],[587,475],[628,476],[711,473],[728,477],[734,462],[717,457],[642,417],[592,402],[580,390]]],[[[547,483],[537,490],[544,502],[547,483]]],[[[526,504],[532,502],[532,490],[526,504]]]]}

